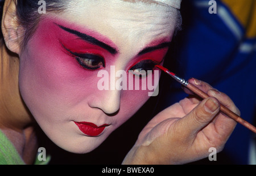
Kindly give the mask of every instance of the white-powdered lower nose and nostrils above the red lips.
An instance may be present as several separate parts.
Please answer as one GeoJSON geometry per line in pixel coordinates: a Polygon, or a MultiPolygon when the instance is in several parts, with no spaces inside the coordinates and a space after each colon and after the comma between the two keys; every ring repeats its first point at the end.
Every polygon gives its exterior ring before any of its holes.
{"type": "Polygon", "coordinates": [[[94,97],[89,104],[91,108],[98,108],[105,114],[113,116],[118,113],[120,108],[121,91],[108,90],[100,92],[100,96],[94,97]]]}

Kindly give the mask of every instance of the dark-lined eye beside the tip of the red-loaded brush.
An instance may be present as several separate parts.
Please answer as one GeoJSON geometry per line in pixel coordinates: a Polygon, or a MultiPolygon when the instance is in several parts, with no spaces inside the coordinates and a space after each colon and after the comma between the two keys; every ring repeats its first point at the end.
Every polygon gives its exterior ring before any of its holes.
{"type": "Polygon", "coordinates": [[[144,60],[131,67],[129,72],[132,72],[135,76],[138,76],[139,78],[143,78],[147,76],[148,71],[152,72],[155,65],[157,65],[157,63],[152,60],[144,60]]]}

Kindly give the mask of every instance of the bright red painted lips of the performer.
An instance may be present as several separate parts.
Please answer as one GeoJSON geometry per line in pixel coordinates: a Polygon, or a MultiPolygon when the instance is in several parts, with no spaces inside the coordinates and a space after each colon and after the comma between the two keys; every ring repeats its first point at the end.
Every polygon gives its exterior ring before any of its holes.
{"type": "Polygon", "coordinates": [[[97,126],[94,123],[90,122],[75,122],[79,129],[88,136],[98,136],[100,135],[108,124],[104,124],[102,126],[97,126]]]}

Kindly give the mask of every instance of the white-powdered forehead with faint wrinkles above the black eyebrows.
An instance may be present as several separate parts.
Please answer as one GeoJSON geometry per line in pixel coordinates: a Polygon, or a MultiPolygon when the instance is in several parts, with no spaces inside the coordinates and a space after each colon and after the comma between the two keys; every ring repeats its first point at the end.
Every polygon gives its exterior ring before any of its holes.
{"type": "Polygon", "coordinates": [[[170,7],[121,0],[74,0],[60,17],[101,33],[119,46],[134,42],[143,46],[170,38],[176,22],[170,7]]]}

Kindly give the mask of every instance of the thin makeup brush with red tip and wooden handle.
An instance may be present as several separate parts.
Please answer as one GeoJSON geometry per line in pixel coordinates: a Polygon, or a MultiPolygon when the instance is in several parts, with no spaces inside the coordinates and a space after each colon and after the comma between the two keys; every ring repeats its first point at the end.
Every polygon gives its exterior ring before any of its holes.
{"type": "MultiPolygon", "coordinates": [[[[166,72],[168,75],[170,75],[172,78],[174,78],[180,84],[182,84],[184,87],[188,88],[190,91],[195,93],[197,96],[199,96],[203,99],[209,97],[207,95],[207,93],[201,91],[199,88],[195,87],[195,85],[189,83],[187,80],[179,78],[176,74],[169,71],[167,68],[164,68],[163,66],[159,66],[159,65],[156,65],[156,67],[158,67],[158,68],[160,68],[160,70],[163,70],[164,72],[166,72]]],[[[248,128],[249,130],[253,131],[256,134],[256,127],[254,127],[249,122],[242,119],[239,115],[233,113],[233,111],[229,110],[222,104],[220,104],[220,111],[221,111],[221,113],[228,115],[228,117],[234,119],[236,122],[241,123],[241,125],[245,126],[246,128],[248,128]]]]}

